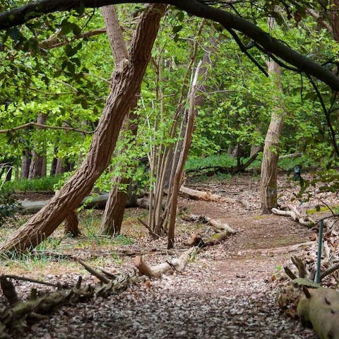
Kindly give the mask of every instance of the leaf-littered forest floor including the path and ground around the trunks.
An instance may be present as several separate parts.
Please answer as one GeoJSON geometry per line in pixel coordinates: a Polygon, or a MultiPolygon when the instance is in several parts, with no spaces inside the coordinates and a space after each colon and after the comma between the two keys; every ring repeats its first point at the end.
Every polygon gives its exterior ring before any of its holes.
{"type": "MultiPolygon", "coordinates": [[[[29,326],[25,335],[18,338],[317,338],[313,331],[302,328],[299,321],[287,318],[277,304],[277,280],[283,265],[290,256],[302,251],[290,253],[288,246],[310,242],[314,239],[314,231],[288,217],[261,215],[256,175],[244,174],[227,180],[208,179],[203,183],[190,182],[187,186],[248,201],[249,207],[245,208],[241,203],[180,200],[180,206],[186,212],[227,222],[239,232],[225,242],[201,251],[182,273],[131,285],[126,291],[107,299],[97,298],[59,307],[47,319],[29,326]],[[274,251],[277,248],[282,250],[277,253],[274,251]]],[[[295,182],[287,181],[286,174],[280,175],[280,191],[284,203],[299,208],[314,208],[319,198],[329,205],[335,201],[338,203],[338,196],[333,194],[314,196],[301,205],[292,201],[293,192],[298,191],[298,187],[295,182]]],[[[129,218],[124,222],[123,233],[126,237],[133,237],[135,242],[114,248],[142,251],[148,262],[166,261],[172,255],[172,252],[166,253],[166,240],[151,241],[145,230],[133,223],[133,216],[140,213],[140,210],[128,210],[129,218]]],[[[141,215],[145,215],[143,213],[141,215]]],[[[203,234],[208,227],[180,218],[178,223],[178,253],[187,248],[185,242],[192,232],[203,234]]],[[[105,257],[105,261],[97,263],[112,272],[133,266],[133,256],[124,256],[120,261],[114,256],[113,260],[112,251],[107,251],[105,246],[69,246],[77,241],[63,240],[68,246],[58,251],[85,260],[105,257]]],[[[2,271],[35,278],[38,274],[49,281],[77,280],[78,266],[58,268],[57,264],[49,263],[43,268],[7,265],[2,271]]],[[[81,275],[86,276],[83,271],[81,275]]],[[[92,278],[87,276],[86,279],[92,278]]],[[[19,281],[16,286],[19,295],[23,296],[32,283],[19,281]]]]}

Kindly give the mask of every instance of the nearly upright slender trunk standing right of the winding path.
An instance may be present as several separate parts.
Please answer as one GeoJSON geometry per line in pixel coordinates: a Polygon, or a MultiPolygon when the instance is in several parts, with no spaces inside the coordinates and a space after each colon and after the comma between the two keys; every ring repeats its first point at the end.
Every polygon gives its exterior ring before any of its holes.
{"type": "MultiPolygon", "coordinates": [[[[270,28],[274,25],[274,18],[269,18],[270,28]]],[[[277,206],[277,177],[280,136],[283,131],[285,109],[283,107],[283,85],[281,83],[281,68],[273,60],[268,61],[268,73],[272,78],[272,92],[275,107],[270,116],[270,125],[263,147],[263,161],[261,162],[261,211],[271,213],[277,206]]]]}

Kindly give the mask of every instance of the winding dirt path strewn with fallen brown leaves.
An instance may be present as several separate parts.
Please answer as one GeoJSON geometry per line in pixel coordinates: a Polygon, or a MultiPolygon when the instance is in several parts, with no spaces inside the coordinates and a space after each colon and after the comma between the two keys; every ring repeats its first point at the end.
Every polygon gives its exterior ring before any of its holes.
{"type": "Polygon", "coordinates": [[[227,210],[225,203],[183,203],[240,232],[203,251],[181,275],[62,307],[26,338],[316,338],[280,314],[269,283],[290,254],[260,251],[307,242],[310,231],[288,218],[227,210]]]}

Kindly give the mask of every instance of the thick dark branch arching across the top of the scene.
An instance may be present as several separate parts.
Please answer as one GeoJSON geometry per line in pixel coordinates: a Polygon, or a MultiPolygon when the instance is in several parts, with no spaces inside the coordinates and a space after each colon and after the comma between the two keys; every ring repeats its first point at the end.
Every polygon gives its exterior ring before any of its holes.
{"type": "MultiPolygon", "coordinates": [[[[15,8],[12,11],[4,11],[0,13],[0,30],[6,30],[16,25],[22,25],[32,18],[39,18],[47,13],[56,11],[69,11],[72,8],[81,6],[89,8],[97,8],[110,4],[127,4],[127,3],[146,3],[148,1],[133,0],[40,0],[34,4],[15,8]]],[[[288,64],[295,66],[300,71],[318,78],[333,90],[339,91],[339,78],[335,76],[326,67],[304,57],[304,55],[287,47],[280,40],[271,37],[267,32],[258,28],[254,23],[250,23],[244,18],[233,13],[223,11],[220,8],[213,8],[201,3],[198,0],[153,0],[153,3],[170,4],[177,6],[194,16],[207,18],[220,23],[226,29],[234,29],[244,33],[254,42],[260,44],[268,53],[274,54],[283,59],[288,64]]]]}

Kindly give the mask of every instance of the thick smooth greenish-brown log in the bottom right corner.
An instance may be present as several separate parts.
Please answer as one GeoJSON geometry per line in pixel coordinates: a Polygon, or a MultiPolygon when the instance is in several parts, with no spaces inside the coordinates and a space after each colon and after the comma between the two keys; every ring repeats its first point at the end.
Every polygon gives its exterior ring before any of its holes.
{"type": "Polygon", "coordinates": [[[299,299],[297,314],[321,339],[339,339],[339,293],[331,288],[307,289],[299,299]]]}

